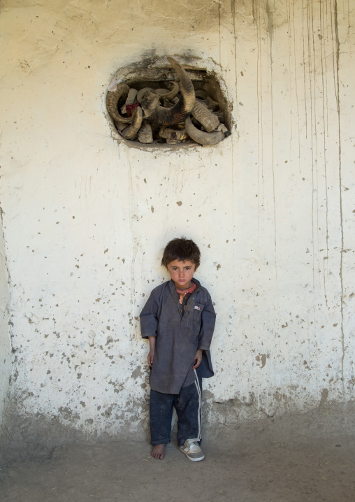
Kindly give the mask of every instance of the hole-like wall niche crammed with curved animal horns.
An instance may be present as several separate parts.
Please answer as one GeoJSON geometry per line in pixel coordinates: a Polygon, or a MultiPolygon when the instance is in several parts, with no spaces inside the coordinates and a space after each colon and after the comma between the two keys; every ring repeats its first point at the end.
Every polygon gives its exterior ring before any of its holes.
{"type": "Polygon", "coordinates": [[[154,57],[125,66],[106,94],[111,127],[135,148],[217,145],[232,125],[220,83],[198,58],[154,57]]]}

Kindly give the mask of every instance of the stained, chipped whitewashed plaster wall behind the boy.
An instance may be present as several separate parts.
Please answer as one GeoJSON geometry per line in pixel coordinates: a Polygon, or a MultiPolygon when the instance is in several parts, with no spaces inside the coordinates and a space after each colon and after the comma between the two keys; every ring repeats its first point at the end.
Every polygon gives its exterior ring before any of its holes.
{"type": "Polygon", "coordinates": [[[3,1],[1,200],[20,416],[145,431],[138,315],[167,278],[164,245],[182,235],[201,247],[197,277],[217,310],[211,421],[354,398],[350,8],[3,1]],[[111,137],[110,79],[152,55],[215,61],[232,136],[152,152],[111,137]]]}

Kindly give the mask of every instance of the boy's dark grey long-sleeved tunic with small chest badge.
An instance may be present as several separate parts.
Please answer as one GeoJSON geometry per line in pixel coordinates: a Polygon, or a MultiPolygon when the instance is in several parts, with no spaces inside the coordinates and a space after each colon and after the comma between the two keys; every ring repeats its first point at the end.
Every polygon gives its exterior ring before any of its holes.
{"type": "Polygon", "coordinates": [[[194,382],[191,368],[197,349],[203,350],[198,371],[203,378],[214,375],[210,343],[215,329],[215,309],[207,289],[198,280],[192,281],[197,287],[187,301],[184,315],[173,280],[153,289],[140,313],[142,337],[157,337],[150,387],[163,394],[179,394],[182,387],[194,382]]]}

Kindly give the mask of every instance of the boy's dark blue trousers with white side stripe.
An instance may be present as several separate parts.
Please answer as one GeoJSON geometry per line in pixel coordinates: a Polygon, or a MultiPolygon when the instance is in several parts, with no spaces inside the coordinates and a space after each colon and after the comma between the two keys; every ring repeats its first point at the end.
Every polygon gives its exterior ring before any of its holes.
{"type": "MultiPolygon", "coordinates": [[[[196,373],[196,371],[195,371],[196,373]]],[[[188,387],[182,387],[180,394],[162,394],[150,390],[150,443],[170,443],[173,406],[178,414],[178,444],[187,439],[201,440],[202,378],[196,373],[196,380],[188,387]]]]}

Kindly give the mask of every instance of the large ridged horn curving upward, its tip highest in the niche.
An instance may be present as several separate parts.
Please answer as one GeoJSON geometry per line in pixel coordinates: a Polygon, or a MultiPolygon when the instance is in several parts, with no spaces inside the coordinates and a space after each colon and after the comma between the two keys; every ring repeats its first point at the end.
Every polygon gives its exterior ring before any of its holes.
{"type": "Polygon", "coordinates": [[[151,115],[151,119],[158,124],[173,125],[182,122],[185,117],[188,117],[194,108],[195,91],[191,79],[180,64],[172,57],[168,57],[168,62],[173,66],[173,69],[178,73],[180,80],[181,96],[173,108],[164,108],[157,106],[151,115]]]}

